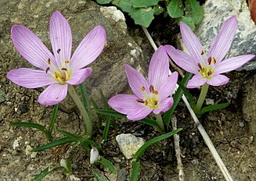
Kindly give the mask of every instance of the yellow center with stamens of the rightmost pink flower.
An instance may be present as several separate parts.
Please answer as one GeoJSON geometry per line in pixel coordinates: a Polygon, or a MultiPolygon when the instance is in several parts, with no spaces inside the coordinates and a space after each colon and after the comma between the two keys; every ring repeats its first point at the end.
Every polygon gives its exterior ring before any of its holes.
{"type": "MultiPolygon", "coordinates": [[[[204,52],[204,51],[201,51],[201,52],[204,52]]],[[[204,55],[204,53],[203,54],[201,53],[201,55],[204,55]]],[[[213,66],[215,65],[215,63],[216,63],[215,57],[212,57],[212,58],[209,57],[207,59],[206,65],[202,66],[200,63],[198,63],[197,66],[199,68],[200,75],[210,80],[214,74],[213,66]]]]}

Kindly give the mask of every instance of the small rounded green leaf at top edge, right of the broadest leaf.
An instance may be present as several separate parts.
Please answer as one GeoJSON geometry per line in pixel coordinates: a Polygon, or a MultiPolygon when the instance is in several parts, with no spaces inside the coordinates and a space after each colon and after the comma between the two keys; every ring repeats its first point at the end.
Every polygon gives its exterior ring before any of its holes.
{"type": "Polygon", "coordinates": [[[169,16],[172,18],[178,18],[183,16],[184,7],[182,5],[182,0],[171,0],[167,6],[167,11],[169,16]]]}

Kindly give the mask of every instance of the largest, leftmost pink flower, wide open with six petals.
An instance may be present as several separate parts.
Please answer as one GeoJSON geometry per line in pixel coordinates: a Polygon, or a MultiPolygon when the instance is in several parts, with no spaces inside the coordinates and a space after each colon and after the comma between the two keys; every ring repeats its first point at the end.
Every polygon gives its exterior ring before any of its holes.
{"type": "Polygon", "coordinates": [[[63,15],[56,11],[50,20],[50,40],[52,51],[22,25],[14,25],[11,30],[14,46],[24,59],[39,69],[13,69],[7,78],[22,87],[37,88],[48,86],[38,102],[41,105],[55,105],[67,96],[67,87],[78,85],[92,73],[92,68],[84,68],[103,51],[106,31],[96,26],[78,45],[71,57],[72,34],[70,25],[63,15]]]}

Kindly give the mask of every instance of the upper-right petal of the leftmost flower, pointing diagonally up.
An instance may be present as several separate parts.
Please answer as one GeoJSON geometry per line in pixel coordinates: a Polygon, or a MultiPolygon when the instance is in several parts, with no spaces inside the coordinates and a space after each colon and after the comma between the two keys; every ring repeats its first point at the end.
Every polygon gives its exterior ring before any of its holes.
{"type": "Polygon", "coordinates": [[[103,51],[106,43],[106,30],[102,26],[96,26],[78,45],[71,58],[71,66],[81,69],[96,60],[103,51]]]}

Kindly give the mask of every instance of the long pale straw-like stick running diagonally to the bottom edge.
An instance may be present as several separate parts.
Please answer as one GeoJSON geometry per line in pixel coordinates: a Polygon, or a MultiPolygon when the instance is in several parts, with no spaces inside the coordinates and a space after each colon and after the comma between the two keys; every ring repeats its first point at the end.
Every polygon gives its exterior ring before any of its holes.
{"type": "MultiPolygon", "coordinates": [[[[146,37],[150,41],[150,44],[152,45],[153,49],[156,51],[157,50],[157,45],[154,43],[154,41],[153,41],[152,37],[150,36],[148,30],[146,30],[145,27],[142,27],[142,30],[146,34],[146,37]]],[[[178,87],[178,85],[176,85],[176,87],[178,87]]],[[[209,148],[209,150],[211,151],[212,156],[215,158],[215,161],[216,161],[219,169],[221,169],[222,174],[225,177],[225,180],[233,181],[233,178],[230,176],[228,169],[225,167],[225,165],[222,161],[222,158],[220,158],[220,156],[218,155],[218,152],[216,151],[215,146],[212,144],[210,137],[208,136],[208,134],[204,130],[204,127],[201,125],[199,120],[197,119],[197,115],[195,114],[195,112],[193,112],[193,109],[189,105],[189,102],[186,99],[184,94],[182,94],[182,100],[184,101],[186,107],[189,109],[189,112],[190,112],[194,122],[196,123],[197,129],[199,130],[200,134],[204,138],[204,141],[207,144],[207,147],[209,148]]]]}

